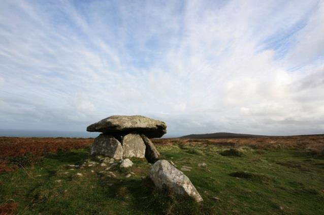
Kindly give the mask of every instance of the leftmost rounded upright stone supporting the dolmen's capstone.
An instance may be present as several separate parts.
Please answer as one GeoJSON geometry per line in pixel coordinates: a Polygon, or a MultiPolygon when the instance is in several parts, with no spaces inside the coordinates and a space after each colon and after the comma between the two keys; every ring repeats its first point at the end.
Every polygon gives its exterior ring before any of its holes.
{"type": "Polygon", "coordinates": [[[91,155],[103,155],[114,159],[122,159],[121,143],[109,134],[101,134],[94,139],[90,148],[91,155]]]}

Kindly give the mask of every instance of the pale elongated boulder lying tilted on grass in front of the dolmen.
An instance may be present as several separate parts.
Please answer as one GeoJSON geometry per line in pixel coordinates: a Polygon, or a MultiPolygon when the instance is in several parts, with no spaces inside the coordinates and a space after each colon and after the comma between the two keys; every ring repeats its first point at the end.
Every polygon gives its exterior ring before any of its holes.
{"type": "Polygon", "coordinates": [[[190,196],[197,202],[203,201],[189,178],[166,160],[159,160],[152,165],[150,177],[159,189],[165,187],[174,193],[190,196]]]}

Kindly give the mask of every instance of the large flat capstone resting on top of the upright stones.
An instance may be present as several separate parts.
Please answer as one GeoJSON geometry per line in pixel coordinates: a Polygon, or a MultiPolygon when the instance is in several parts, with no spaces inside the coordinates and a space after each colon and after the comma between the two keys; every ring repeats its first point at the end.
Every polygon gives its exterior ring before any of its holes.
{"type": "Polygon", "coordinates": [[[140,115],[115,115],[88,126],[87,131],[114,134],[115,136],[124,136],[131,132],[137,132],[144,134],[148,138],[158,138],[167,133],[167,125],[163,121],[140,115]]]}

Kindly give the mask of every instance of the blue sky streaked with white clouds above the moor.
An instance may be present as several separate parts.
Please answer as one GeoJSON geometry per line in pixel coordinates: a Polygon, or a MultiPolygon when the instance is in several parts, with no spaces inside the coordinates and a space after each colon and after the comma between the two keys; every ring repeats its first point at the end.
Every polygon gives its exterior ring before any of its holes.
{"type": "Polygon", "coordinates": [[[324,133],[323,1],[2,1],[0,129],[324,133]]]}

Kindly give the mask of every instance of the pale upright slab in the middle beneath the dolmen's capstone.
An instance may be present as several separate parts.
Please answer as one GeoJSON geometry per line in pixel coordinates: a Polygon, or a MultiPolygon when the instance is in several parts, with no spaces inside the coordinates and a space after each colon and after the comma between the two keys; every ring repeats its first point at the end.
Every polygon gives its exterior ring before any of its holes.
{"type": "Polygon", "coordinates": [[[144,158],[145,144],[141,136],[131,133],[122,138],[123,158],[144,158]]]}

